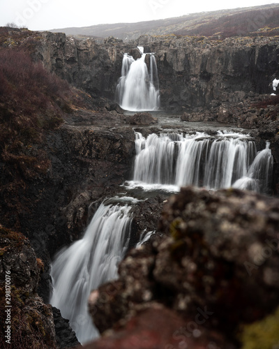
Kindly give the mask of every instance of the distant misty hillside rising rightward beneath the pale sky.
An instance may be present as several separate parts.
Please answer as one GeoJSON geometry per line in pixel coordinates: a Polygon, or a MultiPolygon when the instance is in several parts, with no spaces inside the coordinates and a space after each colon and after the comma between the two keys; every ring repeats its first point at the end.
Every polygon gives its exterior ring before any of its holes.
{"type": "Polygon", "coordinates": [[[279,4],[193,13],[165,20],[98,24],[50,31],[97,38],[114,36],[124,41],[134,40],[146,34],[207,36],[218,39],[230,36],[279,36],[279,4]]]}

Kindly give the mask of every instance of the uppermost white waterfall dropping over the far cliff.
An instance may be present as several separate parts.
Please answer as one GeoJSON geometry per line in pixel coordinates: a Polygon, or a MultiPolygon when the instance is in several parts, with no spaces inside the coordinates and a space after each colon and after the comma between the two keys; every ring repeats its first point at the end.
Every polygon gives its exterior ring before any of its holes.
{"type": "Polygon", "coordinates": [[[124,110],[157,110],[159,107],[159,79],[156,59],[150,54],[150,72],[146,66],[146,54],[133,59],[124,54],[121,77],[116,87],[116,98],[124,110]]]}

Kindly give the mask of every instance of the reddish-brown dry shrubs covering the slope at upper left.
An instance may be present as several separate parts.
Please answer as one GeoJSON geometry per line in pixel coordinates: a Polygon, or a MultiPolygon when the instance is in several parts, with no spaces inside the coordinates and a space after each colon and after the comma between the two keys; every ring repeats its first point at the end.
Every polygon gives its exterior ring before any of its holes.
{"type": "Polygon", "coordinates": [[[63,122],[73,95],[66,81],[24,50],[0,50],[0,150],[10,169],[25,178],[47,170],[49,161],[33,144],[63,122]]]}

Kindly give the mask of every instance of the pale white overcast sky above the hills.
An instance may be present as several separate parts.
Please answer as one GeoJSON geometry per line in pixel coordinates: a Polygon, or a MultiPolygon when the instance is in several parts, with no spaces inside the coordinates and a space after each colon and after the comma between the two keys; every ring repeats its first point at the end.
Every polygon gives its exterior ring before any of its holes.
{"type": "Polygon", "coordinates": [[[141,22],[225,8],[278,3],[265,0],[0,0],[0,27],[14,22],[31,30],[141,22]]]}

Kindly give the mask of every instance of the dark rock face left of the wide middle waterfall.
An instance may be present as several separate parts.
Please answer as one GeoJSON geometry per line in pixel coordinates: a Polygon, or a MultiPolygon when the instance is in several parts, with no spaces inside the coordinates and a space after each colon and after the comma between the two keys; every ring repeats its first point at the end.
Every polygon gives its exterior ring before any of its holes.
{"type": "Polygon", "coordinates": [[[116,112],[77,110],[45,135],[42,144],[34,145],[50,160],[45,173],[22,177],[19,183],[10,183],[8,170],[1,174],[1,221],[29,237],[45,262],[38,289],[45,302],[50,293],[50,257],[80,238],[95,212],[93,202],[113,196],[128,179],[134,138],[133,129],[116,112]]]}

